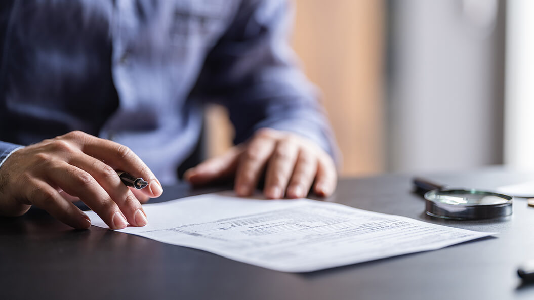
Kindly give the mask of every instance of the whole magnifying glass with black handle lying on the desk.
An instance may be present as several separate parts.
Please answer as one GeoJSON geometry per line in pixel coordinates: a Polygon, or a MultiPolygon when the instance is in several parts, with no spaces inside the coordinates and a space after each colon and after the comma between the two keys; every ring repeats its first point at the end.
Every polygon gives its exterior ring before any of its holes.
{"type": "Polygon", "coordinates": [[[415,193],[426,201],[427,215],[446,219],[474,220],[509,216],[513,196],[475,189],[449,189],[423,178],[414,178],[415,193]]]}

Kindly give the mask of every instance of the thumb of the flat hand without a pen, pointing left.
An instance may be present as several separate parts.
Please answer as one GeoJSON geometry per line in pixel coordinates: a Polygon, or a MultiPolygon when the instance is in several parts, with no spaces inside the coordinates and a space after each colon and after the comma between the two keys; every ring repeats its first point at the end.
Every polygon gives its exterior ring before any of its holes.
{"type": "Polygon", "coordinates": [[[209,159],[184,173],[185,180],[193,185],[203,185],[217,179],[232,176],[237,169],[240,147],[232,147],[221,156],[209,159]]]}

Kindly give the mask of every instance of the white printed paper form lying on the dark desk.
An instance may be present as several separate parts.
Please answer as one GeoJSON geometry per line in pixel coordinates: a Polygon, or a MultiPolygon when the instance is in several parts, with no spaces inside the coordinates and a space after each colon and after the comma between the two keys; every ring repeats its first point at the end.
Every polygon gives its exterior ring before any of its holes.
{"type": "MultiPolygon", "coordinates": [[[[218,193],[143,207],[146,226],[117,231],[286,272],[435,250],[492,234],[309,199],[218,193]]],[[[93,225],[108,227],[94,212],[87,213],[93,225]]]]}

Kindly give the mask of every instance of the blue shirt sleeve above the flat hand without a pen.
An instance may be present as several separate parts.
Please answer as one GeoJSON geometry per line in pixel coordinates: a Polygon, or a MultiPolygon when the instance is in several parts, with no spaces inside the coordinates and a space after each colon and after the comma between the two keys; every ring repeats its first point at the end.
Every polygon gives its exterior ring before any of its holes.
{"type": "Polygon", "coordinates": [[[289,46],[292,16],[287,0],[242,2],[208,54],[197,88],[229,110],[234,143],[260,128],[292,131],[315,141],[339,162],[318,91],[289,46]]]}

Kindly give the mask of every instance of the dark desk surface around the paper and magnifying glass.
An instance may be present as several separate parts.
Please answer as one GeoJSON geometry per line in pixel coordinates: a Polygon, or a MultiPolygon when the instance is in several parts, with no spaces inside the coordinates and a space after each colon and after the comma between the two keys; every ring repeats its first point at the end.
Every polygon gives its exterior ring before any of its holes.
{"type": "MultiPolygon", "coordinates": [[[[532,299],[519,264],[534,258],[534,208],[512,217],[452,221],[426,216],[410,175],[345,178],[332,201],[498,238],[334,269],[283,273],[91,226],[75,231],[32,209],[0,218],[2,299],[532,299]]],[[[502,169],[429,176],[452,186],[491,188],[534,179],[502,169]]],[[[158,201],[212,192],[166,188],[158,201]]],[[[150,216],[149,216],[150,217],[150,216]]]]}

